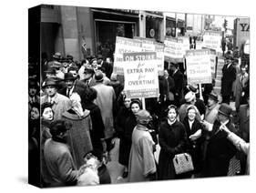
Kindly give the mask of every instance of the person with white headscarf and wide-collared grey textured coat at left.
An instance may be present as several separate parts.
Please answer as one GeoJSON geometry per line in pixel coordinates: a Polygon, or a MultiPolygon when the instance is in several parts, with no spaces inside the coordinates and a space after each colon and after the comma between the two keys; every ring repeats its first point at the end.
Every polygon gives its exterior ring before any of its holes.
{"type": "Polygon", "coordinates": [[[92,150],[92,143],[89,134],[91,129],[90,112],[83,110],[81,98],[77,93],[70,96],[72,107],[62,114],[63,119],[72,124],[70,128],[67,144],[70,146],[72,156],[74,157],[77,168],[84,164],[83,156],[92,150]]]}

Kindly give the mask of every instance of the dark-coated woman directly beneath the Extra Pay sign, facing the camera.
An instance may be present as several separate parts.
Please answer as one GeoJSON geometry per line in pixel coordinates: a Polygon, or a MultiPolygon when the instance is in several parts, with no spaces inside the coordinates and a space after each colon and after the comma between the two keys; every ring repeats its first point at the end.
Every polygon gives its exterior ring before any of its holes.
{"type": "Polygon", "coordinates": [[[130,102],[131,112],[129,116],[126,118],[124,122],[123,129],[123,138],[122,142],[120,142],[120,150],[119,150],[119,162],[126,166],[125,171],[123,173],[123,178],[128,177],[128,160],[129,160],[129,152],[131,147],[131,136],[134,127],[137,125],[136,114],[141,109],[141,103],[138,99],[133,99],[130,102]]]}

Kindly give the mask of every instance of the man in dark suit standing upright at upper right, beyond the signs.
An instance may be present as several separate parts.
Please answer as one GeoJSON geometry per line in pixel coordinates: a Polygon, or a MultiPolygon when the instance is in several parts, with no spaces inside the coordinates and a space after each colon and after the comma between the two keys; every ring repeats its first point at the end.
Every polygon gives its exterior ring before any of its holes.
{"type": "Polygon", "coordinates": [[[232,65],[231,56],[226,57],[226,64],[222,68],[221,95],[222,103],[230,104],[232,85],[236,79],[236,68],[232,65]]]}

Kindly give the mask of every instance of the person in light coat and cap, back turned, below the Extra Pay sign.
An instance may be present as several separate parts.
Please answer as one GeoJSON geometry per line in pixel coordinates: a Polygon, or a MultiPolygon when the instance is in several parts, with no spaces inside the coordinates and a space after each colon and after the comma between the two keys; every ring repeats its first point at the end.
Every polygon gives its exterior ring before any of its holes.
{"type": "Polygon", "coordinates": [[[157,166],[153,153],[155,142],[148,131],[148,123],[151,119],[152,117],[147,110],[138,111],[137,126],[132,132],[128,182],[156,179],[157,166]]]}

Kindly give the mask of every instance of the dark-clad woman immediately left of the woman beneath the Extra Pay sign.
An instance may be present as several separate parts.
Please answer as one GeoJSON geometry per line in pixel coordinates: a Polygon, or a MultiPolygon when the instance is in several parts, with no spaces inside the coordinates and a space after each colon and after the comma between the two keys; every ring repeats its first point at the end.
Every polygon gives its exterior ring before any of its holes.
{"type": "MultiPolygon", "coordinates": [[[[127,146],[126,146],[126,137],[125,137],[125,124],[127,117],[131,117],[133,114],[130,110],[131,99],[124,96],[123,98],[123,106],[120,107],[118,111],[118,116],[115,119],[115,127],[118,137],[120,138],[119,144],[119,157],[118,162],[125,166],[125,172],[128,171],[128,163],[127,163],[127,146]]],[[[124,172],[123,176],[127,174],[124,172]]]]}

